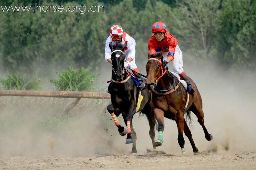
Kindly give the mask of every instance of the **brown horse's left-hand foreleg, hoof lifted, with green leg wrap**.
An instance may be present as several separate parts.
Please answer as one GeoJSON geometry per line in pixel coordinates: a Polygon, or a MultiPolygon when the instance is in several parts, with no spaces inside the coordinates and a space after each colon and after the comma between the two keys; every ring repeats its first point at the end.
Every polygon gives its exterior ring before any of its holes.
{"type": "Polygon", "coordinates": [[[158,121],[158,139],[153,143],[156,147],[161,146],[164,142],[163,132],[164,132],[164,111],[162,109],[154,109],[155,117],[158,121]]]}

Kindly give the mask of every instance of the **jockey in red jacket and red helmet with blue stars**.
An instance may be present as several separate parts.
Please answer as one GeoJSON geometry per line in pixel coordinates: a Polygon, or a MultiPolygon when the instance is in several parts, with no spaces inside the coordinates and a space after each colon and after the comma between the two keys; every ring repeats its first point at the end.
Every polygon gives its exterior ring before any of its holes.
{"type": "Polygon", "coordinates": [[[164,66],[167,67],[167,63],[173,62],[173,72],[179,74],[180,77],[188,84],[187,92],[193,93],[193,89],[189,77],[183,70],[182,52],[178,46],[178,41],[169,32],[166,32],[166,25],[162,22],[156,22],[152,26],[152,35],[148,40],[148,57],[156,52],[162,51],[162,57],[164,66]]]}

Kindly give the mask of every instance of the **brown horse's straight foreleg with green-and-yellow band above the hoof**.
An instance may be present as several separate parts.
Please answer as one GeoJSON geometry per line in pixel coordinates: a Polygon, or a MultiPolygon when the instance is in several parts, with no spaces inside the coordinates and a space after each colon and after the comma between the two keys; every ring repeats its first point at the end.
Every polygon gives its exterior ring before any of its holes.
{"type": "Polygon", "coordinates": [[[176,124],[177,124],[178,134],[179,134],[178,135],[178,143],[180,145],[182,155],[185,155],[185,149],[184,149],[185,140],[184,140],[184,137],[183,137],[184,115],[183,115],[182,111],[180,111],[176,114],[175,121],[176,121],[176,124]]]}

